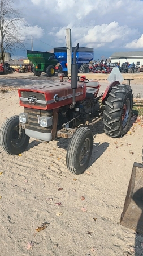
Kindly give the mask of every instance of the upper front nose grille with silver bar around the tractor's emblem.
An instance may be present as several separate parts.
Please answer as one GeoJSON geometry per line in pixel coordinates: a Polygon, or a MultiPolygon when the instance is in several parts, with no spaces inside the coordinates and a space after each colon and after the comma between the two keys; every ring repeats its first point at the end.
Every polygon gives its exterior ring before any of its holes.
{"type": "Polygon", "coordinates": [[[31,105],[32,102],[29,102],[29,97],[34,96],[36,98],[36,102],[34,103],[35,106],[42,106],[45,107],[47,105],[45,94],[38,93],[38,92],[27,92],[22,90],[20,100],[23,104],[31,105]]]}

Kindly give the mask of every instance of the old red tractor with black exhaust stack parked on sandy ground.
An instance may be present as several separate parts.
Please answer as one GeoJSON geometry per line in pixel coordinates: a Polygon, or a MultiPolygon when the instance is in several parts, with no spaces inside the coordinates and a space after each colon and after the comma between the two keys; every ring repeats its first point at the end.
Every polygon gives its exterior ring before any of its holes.
{"type": "Polygon", "coordinates": [[[24,112],[8,118],[0,131],[0,143],[8,154],[18,155],[26,150],[29,138],[50,142],[56,137],[71,138],[67,148],[67,168],[73,174],[82,174],[88,167],[93,150],[93,134],[85,126],[102,113],[104,130],[110,137],[122,137],[131,119],[133,95],[128,85],[112,82],[105,93],[97,96],[99,82],[78,76],[76,51],[71,77],[63,81],[45,82],[18,90],[24,112]]]}

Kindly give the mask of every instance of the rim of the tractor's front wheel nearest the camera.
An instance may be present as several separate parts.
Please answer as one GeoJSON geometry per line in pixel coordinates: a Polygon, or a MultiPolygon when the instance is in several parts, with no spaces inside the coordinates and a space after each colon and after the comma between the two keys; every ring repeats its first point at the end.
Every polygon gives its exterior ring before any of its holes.
{"type": "Polygon", "coordinates": [[[80,150],[80,157],[79,157],[80,166],[83,166],[86,163],[90,153],[90,146],[91,146],[90,139],[86,138],[80,150]]]}

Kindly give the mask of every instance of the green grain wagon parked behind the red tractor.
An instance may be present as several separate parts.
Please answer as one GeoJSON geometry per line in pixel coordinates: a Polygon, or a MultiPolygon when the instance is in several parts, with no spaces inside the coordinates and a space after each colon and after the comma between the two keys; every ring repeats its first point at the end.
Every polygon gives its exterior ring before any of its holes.
{"type": "Polygon", "coordinates": [[[48,76],[55,75],[55,65],[57,65],[58,60],[54,53],[27,50],[27,57],[33,63],[34,75],[40,76],[42,72],[48,76]]]}

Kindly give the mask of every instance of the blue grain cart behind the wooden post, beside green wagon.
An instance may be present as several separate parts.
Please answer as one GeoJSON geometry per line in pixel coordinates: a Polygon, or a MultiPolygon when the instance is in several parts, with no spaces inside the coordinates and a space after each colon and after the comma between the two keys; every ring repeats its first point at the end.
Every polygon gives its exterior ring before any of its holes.
{"type": "MultiPolygon", "coordinates": [[[[75,47],[72,47],[72,59],[73,51],[75,47]]],[[[54,54],[57,57],[60,65],[56,67],[58,72],[63,72],[67,76],[67,48],[66,47],[57,47],[54,48],[54,54]]],[[[79,73],[89,73],[89,62],[93,60],[94,52],[93,48],[88,47],[79,47],[76,53],[76,63],[78,65],[79,73]]]]}

